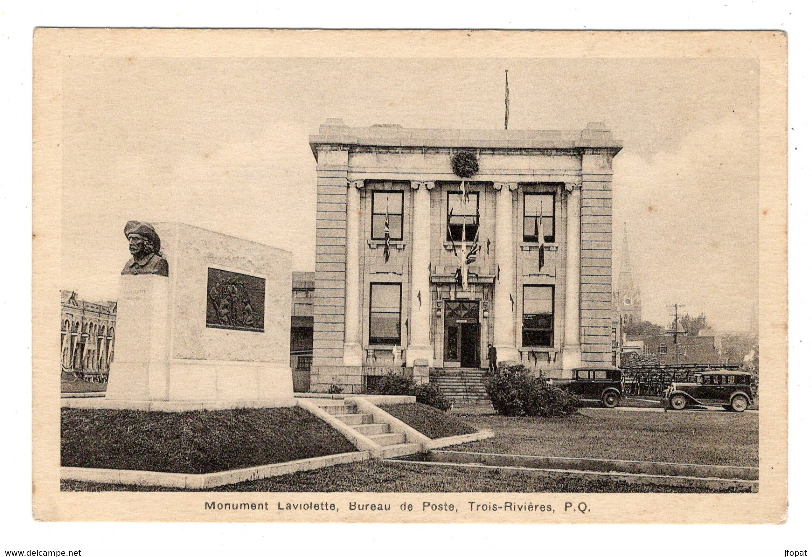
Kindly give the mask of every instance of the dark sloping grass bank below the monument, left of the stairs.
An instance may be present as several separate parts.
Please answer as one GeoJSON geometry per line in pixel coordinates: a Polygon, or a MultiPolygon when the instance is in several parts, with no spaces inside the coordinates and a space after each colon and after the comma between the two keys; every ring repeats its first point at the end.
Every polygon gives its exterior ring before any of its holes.
{"type": "Polygon", "coordinates": [[[62,465],[208,473],[356,451],[301,408],[63,408],[62,465]]]}

